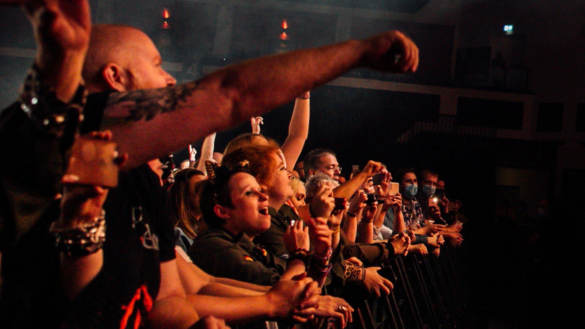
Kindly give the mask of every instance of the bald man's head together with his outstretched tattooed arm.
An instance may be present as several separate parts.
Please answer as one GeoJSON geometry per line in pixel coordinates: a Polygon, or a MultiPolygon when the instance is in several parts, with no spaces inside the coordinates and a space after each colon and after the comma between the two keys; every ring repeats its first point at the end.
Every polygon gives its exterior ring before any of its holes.
{"type": "Polygon", "coordinates": [[[129,155],[128,167],[268,112],[354,67],[415,71],[418,49],[402,33],[386,32],[245,61],[181,85],[161,63],[152,40],[140,30],[94,26],[83,76],[90,92],[112,91],[100,109],[99,128],[111,129],[129,155]]]}

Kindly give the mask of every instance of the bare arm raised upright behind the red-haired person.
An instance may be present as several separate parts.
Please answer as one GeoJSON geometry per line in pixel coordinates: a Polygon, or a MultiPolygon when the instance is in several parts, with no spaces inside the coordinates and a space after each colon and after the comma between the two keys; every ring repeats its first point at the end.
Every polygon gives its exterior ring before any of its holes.
{"type": "Polygon", "coordinates": [[[302,147],[309,136],[309,92],[297,97],[292,110],[291,123],[288,125],[288,136],[283,143],[284,159],[287,160],[289,170],[297,164],[302,147]]]}

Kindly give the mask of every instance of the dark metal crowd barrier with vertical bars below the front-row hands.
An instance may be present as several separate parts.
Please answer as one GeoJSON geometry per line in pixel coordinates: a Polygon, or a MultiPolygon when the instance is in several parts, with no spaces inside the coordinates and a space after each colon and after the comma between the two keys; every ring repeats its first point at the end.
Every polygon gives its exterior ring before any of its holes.
{"type": "Polygon", "coordinates": [[[469,327],[467,285],[458,249],[443,245],[441,255],[407,255],[388,261],[393,272],[389,296],[357,305],[355,329],[457,329],[469,327]],[[357,321],[356,321],[357,320],[357,321]]]}

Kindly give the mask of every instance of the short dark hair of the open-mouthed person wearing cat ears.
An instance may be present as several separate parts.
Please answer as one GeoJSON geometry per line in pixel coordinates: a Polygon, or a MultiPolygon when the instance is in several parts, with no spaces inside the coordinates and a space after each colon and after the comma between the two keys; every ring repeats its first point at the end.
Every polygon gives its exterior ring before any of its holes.
{"type": "Polygon", "coordinates": [[[249,170],[245,167],[236,167],[230,170],[226,166],[214,166],[212,172],[210,173],[208,168],[207,173],[209,178],[205,181],[205,186],[199,199],[199,208],[203,214],[205,224],[208,227],[218,228],[225,224],[225,220],[215,214],[215,205],[219,204],[228,208],[235,207],[230,198],[229,180],[233,175],[237,173],[249,173],[249,170]]]}

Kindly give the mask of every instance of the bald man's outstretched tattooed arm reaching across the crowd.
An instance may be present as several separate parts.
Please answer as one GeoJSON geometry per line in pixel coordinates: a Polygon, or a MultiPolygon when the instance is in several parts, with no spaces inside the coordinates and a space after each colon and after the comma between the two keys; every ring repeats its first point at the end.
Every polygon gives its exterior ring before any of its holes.
{"type": "Polygon", "coordinates": [[[112,94],[101,129],[110,129],[121,152],[128,153],[129,168],[261,115],[359,66],[415,71],[418,49],[400,32],[386,32],[245,61],[192,83],[112,94]]]}

